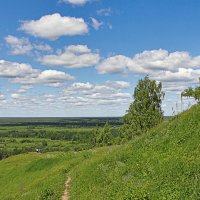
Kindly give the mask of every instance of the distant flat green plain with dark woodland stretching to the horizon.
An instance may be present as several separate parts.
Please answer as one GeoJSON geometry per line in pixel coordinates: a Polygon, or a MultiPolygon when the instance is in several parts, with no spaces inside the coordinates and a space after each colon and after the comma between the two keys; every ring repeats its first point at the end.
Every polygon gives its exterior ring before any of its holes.
{"type": "Polygon", "coordinates": [[[20,153],[81,151],[91,148],[98,124],[116,134],[120,118],[0,118],[0,159],[20,153]]]}

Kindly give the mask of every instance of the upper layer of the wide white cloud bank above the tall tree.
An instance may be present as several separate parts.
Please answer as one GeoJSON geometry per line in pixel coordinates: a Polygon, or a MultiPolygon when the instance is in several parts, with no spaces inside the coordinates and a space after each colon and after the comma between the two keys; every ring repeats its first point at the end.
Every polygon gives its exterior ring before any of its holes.
{"type": "Polygon", "coordinates": [[[157,71],[176,72],[179,68],[199,68],[200,56],[191,57],[188,52],[167,50],[150,50],[136,54],[133,58],[123,55],[108,57],[103,60],[97,70],[100,73],[152,74],[157,71]]]}

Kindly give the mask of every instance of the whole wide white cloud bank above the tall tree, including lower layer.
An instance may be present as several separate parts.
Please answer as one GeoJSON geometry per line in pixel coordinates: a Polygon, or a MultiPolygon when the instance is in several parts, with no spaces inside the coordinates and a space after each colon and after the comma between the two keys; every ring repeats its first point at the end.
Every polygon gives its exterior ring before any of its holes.
{"type": "Polygon", "coordinates": [[[200,56],[192,57],[188,52],[167,50],[143,51],[132,58],[116,55],[108,57],[97,65],[101,74],[132,73],[149,75],[161,82],[197,82],[200,76],[200,56]]]}

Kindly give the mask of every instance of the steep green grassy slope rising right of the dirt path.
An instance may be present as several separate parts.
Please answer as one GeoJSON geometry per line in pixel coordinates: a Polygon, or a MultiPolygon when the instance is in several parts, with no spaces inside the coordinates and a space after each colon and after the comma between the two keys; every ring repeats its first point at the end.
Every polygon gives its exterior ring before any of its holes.
{"type": "Polygon", "coordinates": [[[71,174],[71,199],[200,199],[200,105],[71,174]]]}

